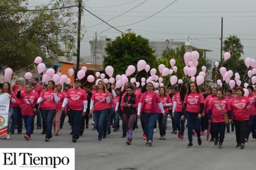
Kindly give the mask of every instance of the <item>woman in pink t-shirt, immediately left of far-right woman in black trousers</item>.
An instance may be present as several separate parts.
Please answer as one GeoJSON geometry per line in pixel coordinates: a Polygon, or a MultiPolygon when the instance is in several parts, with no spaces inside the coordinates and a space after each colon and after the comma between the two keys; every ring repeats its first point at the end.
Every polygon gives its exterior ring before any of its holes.
{"type": "Polygon", "coordinates": [[[229,122],[231,122],[232,115],[229,100],[223,97],[224,92],[219,89],[216,96],[208,105],[208,122],[212,123],[214,145],[217,146],[219,143],[219,148],[222,148],[226,127],[223,114],[229,115],[229,122]]]}

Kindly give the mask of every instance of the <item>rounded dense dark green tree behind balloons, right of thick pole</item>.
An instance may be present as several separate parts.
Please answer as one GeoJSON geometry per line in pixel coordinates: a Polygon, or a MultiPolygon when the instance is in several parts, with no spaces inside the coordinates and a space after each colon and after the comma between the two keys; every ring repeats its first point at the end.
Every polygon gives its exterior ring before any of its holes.
{"type": "MultiPolygon", "coordinates": [[[[125,74],[129,65],[137,68],[139,60],[145,60],[151,68],[157,66],[156,56],[153,49],[149,46],[149,40],[136,34],[121,35],[106,47],[107,55],[104,56],[103,66],[111,65],[114,68],[114,75],[125,74]]],[[[135,71],[131,76],[137,75],[137,79],[141,77],[147,78],[145,70],[137,73],[135,71]]]]}

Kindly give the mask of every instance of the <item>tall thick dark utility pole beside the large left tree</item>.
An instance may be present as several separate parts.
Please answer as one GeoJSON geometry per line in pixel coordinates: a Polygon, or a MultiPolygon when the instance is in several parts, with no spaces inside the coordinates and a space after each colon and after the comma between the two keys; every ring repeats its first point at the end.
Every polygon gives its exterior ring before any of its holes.
{"type": "MultiPolygon", "coordinates": [[[[78,1],[78,31],[77,31],[76,73],[80,69],[81,12],[82,12],[82,0],[79,0],[78,1]]],[[[75,77],[76,77],[76,75],[75,75],[75,77]]]]}

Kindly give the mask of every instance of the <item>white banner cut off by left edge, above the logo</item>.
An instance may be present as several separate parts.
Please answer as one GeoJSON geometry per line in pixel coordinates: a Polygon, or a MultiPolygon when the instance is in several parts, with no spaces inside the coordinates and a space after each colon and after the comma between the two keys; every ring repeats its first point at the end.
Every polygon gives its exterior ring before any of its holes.
{"type": "Polygon", "coordinates": [[[9,113],[10,99],[9,94],[0,95],[0,136],[7,135],[7,123],[9,113]]]}

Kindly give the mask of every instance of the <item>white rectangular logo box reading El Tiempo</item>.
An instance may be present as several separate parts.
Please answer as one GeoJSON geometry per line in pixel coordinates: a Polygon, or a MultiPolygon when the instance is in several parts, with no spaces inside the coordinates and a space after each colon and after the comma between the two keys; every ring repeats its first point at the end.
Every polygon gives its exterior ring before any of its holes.
{"type": "Polygon", "coordinates": [[[0,148],[2,170],[75,170],[75,148],[0,148]]]}

